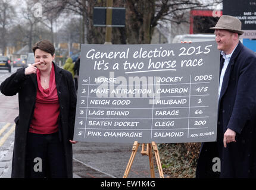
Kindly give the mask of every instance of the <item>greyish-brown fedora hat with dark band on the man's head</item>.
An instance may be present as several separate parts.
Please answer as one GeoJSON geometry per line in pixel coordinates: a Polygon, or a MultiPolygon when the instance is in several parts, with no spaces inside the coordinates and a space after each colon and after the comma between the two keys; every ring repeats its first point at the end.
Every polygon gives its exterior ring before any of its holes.
{"type": "Polygon", "coordinates": [[[229,15],[222,15],[218,20],[216,26],[211,27],[210,29],[228,30],[242,35],[243,31],[241,30],[241,27],[242,23],[238,18],[229,15]]]}

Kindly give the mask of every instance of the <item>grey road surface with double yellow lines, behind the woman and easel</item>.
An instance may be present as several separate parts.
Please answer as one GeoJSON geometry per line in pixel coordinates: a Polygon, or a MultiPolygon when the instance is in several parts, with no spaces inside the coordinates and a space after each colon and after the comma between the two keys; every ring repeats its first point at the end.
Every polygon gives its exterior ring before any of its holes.
{"type": "MultiPolygon", "coordinates": [[[[17,68],[12,69],[12,73],[17,68]]],[[[0,83],[11,75],[0,70],[0,83]]],[[[10,178],[14,144],[14,118],[18,115],[18,95],[0,93],[0,178],[10,178]]],[[[82,143],[73,145],[74,178],[123,178],[133,144],[82,143]]],[[[150,178],[149,158],[138,153],[128,178],[150,178]]],[[[159,178],[155,167],[156,178],[159,178]]]]}

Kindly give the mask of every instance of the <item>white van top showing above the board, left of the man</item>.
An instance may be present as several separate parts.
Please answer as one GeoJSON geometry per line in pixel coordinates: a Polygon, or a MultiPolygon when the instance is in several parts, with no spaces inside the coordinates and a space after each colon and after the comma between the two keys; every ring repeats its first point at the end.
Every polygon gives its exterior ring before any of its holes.
{"type": "Polygon", "coordinates": [[[177,35],[173,39],[173,43],[180,43],[180,42],[205,42],[205,41],[214,41],[215,35],[214,34],[183,34],[177,35]]]}

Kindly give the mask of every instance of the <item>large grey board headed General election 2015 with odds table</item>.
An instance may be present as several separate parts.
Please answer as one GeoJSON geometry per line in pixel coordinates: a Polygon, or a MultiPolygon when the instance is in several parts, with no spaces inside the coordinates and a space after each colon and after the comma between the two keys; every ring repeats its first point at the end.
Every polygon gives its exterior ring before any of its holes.
{"type": "Polygon", "coordinates": [[[216,141],[215,42],[82,45],[74,140],[216,141]]]}

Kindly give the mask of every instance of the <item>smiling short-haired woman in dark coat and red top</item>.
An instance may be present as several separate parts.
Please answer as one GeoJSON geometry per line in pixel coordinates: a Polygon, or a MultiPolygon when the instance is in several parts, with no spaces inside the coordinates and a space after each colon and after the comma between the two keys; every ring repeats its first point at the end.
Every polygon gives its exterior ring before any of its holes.
{"type": "Polygon", "coordinates": [[[5,96],[18,93],[12,178],[72,178],[76,91],[70,72],[54,64],[48,40],[33,47],[35,64],[2,82],[5,96]]]}

